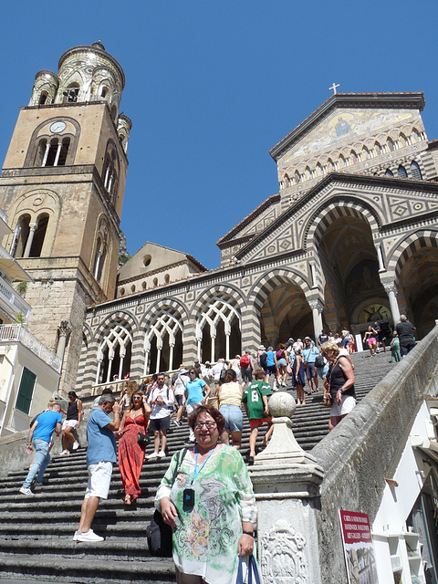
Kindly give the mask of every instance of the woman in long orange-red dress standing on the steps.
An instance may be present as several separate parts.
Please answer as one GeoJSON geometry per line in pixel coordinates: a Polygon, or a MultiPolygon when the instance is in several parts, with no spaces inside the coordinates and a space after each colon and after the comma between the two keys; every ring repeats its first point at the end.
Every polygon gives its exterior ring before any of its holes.
{"type": "Polygon", "coordinates": [[[130,505],[141,495],[139,478],[144,460],[145,445],[138,443],[139,432],[145,434],[148,430],[151,406],[146,401],[142,391],[136,390],[130,396],[130,406],[123,414],[120,423],[119,468],[123,488],[125,489],[125,504],[130,505]]]}

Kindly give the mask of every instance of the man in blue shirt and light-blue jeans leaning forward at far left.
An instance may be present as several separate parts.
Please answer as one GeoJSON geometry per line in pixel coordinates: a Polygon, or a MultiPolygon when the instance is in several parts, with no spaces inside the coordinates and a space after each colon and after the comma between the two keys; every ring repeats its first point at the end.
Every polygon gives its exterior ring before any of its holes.
{"type": "Polygon", "coordinates": [[[23,495],[34,495],[30,490],[36,474],[42,476],[46,470],[47,464],[50,461],[50,454],[48,448],[52,433],[55,430],[57,436],[61,433],[62,416],[60,414],[61,406],[58,403],[53,403],[47,412],[40,413],[36,421],[32,424],[27,438],[26,453],[32,454],[32,447],[35,448],[34,464],[27,473],[26,480],[20,489],[23,495]],[[40,471],[42,470],[42,473],[40,471]]]}

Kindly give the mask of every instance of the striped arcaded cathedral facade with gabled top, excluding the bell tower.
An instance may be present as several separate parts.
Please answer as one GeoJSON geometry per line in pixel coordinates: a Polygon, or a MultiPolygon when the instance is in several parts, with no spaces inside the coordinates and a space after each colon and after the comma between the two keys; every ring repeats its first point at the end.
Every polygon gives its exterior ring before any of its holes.
{"type": "Polygon", "coordinates": [[[279,192],[217,242],[221,266],[178,275],[140,250],[117,297],[88,309],[78,388],[402,313],[422,338],[438,312],[423,107],[422,93],[333,95],[270,151],[279,192]]]}

